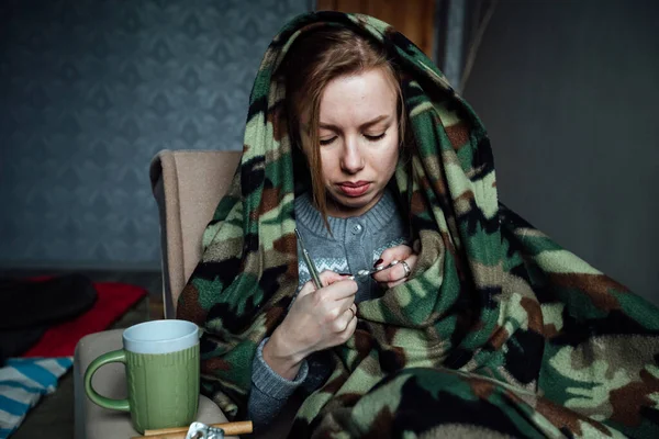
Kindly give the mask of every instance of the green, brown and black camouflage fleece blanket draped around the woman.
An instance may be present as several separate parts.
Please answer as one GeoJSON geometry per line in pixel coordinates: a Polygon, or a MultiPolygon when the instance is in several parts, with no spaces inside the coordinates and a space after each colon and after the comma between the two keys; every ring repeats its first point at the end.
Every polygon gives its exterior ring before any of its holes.
{"type": "Polygon", "coordinates": [[[358,306],[291,437],[659,437],[659,311],[499,203],[484,127],[388,24],[311,13],[269,46],[241,167],[178,316],[201,325],[202,387],[244,416],[257,345],[298,285],[293,159],[278,74],[303,32],[348,26],[404,71],[414,145],[395,181],[421,239],[411,279],[358,306]]]}

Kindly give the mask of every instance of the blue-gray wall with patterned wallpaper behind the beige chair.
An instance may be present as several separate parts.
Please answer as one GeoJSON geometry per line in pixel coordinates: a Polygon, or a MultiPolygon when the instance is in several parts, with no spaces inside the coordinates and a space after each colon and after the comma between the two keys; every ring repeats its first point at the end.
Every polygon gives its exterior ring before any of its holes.
{"type": "Polygon", "coordinates": [[[0,2],[0,264],[159,267],[152,157],[241,149],[260,58],[309,5],[0,2]]]}

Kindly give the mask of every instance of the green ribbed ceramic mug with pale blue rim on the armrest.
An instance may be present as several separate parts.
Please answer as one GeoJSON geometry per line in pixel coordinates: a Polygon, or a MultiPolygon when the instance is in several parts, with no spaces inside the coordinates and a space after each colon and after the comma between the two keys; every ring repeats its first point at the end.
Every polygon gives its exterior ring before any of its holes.
{"type": "Polygon", "coordinates": [[[130,412],[135,429],[182,427],[199,404],[199,327],[187,320],[153,320],[124,330],[123,349],[93,360],[85,372],[85,391],[104,408],[130,412]],[[103,364],[125,364],[129,397],[111,399],[91,386],[103,364]]]}

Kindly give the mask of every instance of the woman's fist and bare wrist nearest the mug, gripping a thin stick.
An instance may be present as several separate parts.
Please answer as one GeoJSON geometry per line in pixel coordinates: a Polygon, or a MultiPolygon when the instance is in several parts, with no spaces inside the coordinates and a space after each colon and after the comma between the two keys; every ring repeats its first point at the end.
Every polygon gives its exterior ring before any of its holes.
{"type": "Polygon", "coordinates": [[[342,345],[357,327],[357,283],[333,271],[321,273],[323,286],[306,282],[281,325],[264,346],[264,360],[280,376],[293,380],[312,352],[342,345]]]}

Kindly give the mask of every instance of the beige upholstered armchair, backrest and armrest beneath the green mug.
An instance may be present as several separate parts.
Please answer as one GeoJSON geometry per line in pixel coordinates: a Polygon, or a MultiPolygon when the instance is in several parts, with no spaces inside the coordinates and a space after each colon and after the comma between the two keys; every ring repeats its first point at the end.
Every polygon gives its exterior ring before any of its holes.
{"type": "MultiPolygon", "coordinates": [[[[203,229],[228,189],[239,158],[239,151],[164,150],[152,162],[150,182],[160,217],[165,318],[176,315],[177,299],[201,257],[203,229]]],[[[87,367],[101,353],[121,348],[121,329],[92,334],[76,347],[76,439],[138,436],[126,413],[101,408],[85,394],[87,367]]],[[[109,397],[126,397],[123,364],[99,369],[93,386],[109,397]]],[[[213,402],[200,396],[198,420],[214,424],[226,421],[226,417],[213,402]]]]}

